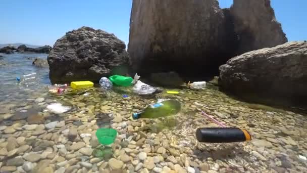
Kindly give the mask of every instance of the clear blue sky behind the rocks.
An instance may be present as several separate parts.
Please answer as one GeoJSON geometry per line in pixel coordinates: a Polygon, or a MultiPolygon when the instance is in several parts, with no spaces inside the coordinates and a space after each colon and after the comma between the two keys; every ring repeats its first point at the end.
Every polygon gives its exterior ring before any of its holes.
{"type": "MultiPolygon", "coordinates": [[[[148,0],[151,1],[151,0],[148,0]]],[[[232,0],[219,0],[230,7],[232,0]]],[[[307,39],[306,0],[272,0],[289,41],[307,39]]],[[[90,26],[114,33],[128,44],[132,0],[0,0],[0,44],[50,45],[67,31],[90,26]]]]}

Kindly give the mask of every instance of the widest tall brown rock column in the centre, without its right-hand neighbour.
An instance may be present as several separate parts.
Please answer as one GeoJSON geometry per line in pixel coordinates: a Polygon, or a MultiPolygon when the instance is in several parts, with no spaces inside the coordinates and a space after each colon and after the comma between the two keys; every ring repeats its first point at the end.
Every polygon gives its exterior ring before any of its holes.
{"type": "Polygon", "coordinates": [[[133,0],[128,52],[134,69],[141,75],[218,72],[236,45],[226,18],[216,0],[133,0]]]}

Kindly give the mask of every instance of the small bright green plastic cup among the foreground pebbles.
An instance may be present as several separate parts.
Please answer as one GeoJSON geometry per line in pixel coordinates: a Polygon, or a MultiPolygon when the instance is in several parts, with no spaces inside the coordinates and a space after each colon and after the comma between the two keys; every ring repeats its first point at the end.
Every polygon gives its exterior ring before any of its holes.
{"type": "Polygon", "coordinates": [[[99,128],[96,132],[98,142],[103,145],[112,144],[117,136],[116,129],[113,128],[99,128]]]}

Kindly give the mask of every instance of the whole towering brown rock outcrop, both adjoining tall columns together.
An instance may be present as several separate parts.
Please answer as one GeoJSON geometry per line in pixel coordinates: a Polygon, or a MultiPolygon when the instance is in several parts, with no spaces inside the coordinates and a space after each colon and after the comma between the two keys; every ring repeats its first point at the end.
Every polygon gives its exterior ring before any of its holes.
{"type": "Polygon", "coordinates": [[[128,52],[144,73],[211,76],[231,57],[286,41],[270,1],[133,0],[128,52]]]}

